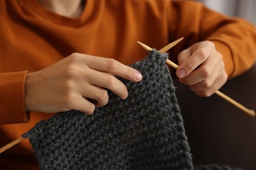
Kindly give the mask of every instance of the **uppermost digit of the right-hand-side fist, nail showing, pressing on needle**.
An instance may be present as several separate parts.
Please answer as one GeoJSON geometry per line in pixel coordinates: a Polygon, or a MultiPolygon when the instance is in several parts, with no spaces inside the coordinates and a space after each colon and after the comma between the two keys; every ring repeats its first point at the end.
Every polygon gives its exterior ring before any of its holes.
{"type": "Polygon", "coordinates": [[[197,48],[190,58],[186,59],[184,63],[177,69],[176,75],[179,78],[190,74],[194,69],[201,65],[210,55],[211,51],[209,48],[197,48]]]}

